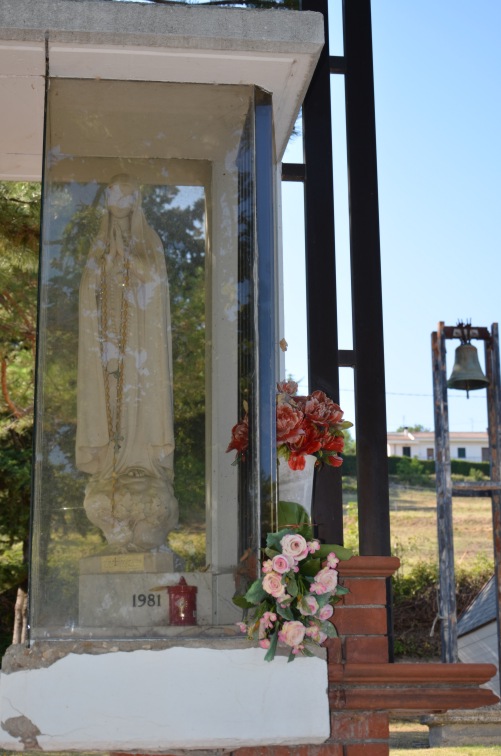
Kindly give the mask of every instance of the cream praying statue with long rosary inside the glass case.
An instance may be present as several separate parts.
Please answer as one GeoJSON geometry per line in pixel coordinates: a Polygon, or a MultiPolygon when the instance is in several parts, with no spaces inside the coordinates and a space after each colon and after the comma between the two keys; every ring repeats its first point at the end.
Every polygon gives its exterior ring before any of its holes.
{"type": "Polygon", "coordinates": [[[169,285],[137,181],[114,176],[80,284],[76,464],[84,506],[114,551],[165,544],[173,492],[169,285]]]}

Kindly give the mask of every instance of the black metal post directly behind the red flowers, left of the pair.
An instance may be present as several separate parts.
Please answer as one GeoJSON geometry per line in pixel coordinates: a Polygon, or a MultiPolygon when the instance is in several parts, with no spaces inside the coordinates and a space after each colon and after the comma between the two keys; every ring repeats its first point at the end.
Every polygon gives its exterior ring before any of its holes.
{"type": "MultiPolygon", "coordinates": [[[[306,286],[310,390],[339,401],[334,185],[327,0],[303,0],[302,10],[324,15],[325,46],[303,104],[306,286]]],[[[313,519],[318,536],[342,542],[341,472],[317,472],[313,519]]]]}

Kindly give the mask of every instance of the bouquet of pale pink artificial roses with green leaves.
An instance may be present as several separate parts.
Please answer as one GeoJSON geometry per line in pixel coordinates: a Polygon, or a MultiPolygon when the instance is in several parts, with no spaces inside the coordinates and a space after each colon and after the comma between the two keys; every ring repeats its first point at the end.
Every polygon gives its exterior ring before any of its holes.
{"type": "Polygon", "coordinates": [[[337,637],[330,621],[334,604],[348,593],[338,583],[337,565],[349,559],[349,549],[325,545],[313,538],[306,510],[292,502],[280,502],[279,523],[294,522],[269,533],[264,549],[262,576],[234,603],[250,613],[238,623],[250,640],[266,649],[272,661],[277,646],[290,649],[288,661],[297,655],[312,656],[309,646],[337,637]]]}

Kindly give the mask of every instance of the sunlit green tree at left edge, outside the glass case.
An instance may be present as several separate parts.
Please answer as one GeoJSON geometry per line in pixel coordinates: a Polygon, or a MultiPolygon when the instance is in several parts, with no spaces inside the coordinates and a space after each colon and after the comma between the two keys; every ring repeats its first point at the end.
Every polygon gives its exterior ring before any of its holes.
{"type": "Polygon", "coordinates": [[[0,183],[0,586],[26,578],[40,185],[0,183]]]}

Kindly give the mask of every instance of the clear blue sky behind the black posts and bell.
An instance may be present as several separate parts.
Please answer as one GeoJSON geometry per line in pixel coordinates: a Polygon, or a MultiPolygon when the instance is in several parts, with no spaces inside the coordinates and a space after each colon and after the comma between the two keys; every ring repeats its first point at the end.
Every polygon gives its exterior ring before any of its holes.
{"type": "MultiPolygon", "coordinates": [[[[331,54],[342,54],[340,5],[330,0],[331,54]]],[[[432,429],[431,332],[440,320],[490,327],[501,319],[501,2],[372,0],[372,22],[388,429],[415,423],[432,429]]],[[[339,135],[343,83],[332,78],[339,135]]],[[[287,159],[300,152],[298,139],[287,159]]],[[[349,349],[348,201],[339,136],[334,168],[339,345],[349,349]]],[[[285,187],[286,268],[296,280],[300,202],[301,187],[285,187]]],[[[287,291],[286,370],[302,378],[304,312],[292,281],[287,291]]],[[[483,364],[483,344],[474,344],[483,364]]],[[[447,342],[449,372],[458,345],[447,342]]],[[[354,419],[347,369],[340,402],[354,419]]],[[[469,400],[449,391],[449,412],[451,430],[484,430],[485,391],[469,400]]]]}

